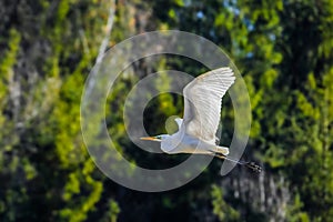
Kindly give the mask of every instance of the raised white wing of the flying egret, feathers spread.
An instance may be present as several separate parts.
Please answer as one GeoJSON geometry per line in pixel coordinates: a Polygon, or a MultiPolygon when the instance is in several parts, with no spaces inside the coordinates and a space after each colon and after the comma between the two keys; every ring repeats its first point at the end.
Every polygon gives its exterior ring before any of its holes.
{"type": "Polygon", "coordinates": [[[195,78],[184,88],[183,127],[188,134],[215,143],[222,97],[234,79],[230,68],[220,68],[195,78]]]}

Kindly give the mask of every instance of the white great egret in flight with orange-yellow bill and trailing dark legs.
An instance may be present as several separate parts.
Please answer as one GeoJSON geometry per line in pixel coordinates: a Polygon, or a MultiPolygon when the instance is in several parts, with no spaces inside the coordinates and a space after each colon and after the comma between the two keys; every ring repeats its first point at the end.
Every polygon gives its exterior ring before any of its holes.
{"type": "Polygon", "coordinates": [[[184,117],[175,119],[179,131],[171,135],[160,134],[141,140],[161,142],[161,150],[169,154],[210,154],[261,172],[261,168],[253,162],[228,158],[229,148],[216,144],[215,133],[220,122],[222,97],[234,80],[233,71],[229,67],[195,78],[183,89],[184,117]]]}

